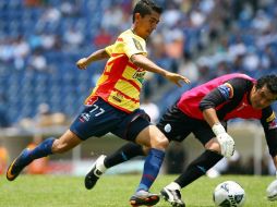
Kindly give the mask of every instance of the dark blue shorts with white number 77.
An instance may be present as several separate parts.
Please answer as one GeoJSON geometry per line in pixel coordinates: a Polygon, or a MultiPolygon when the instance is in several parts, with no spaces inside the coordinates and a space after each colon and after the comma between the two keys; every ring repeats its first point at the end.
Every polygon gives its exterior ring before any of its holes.
{"type": "Polygon", "coordinates": [[[144,110],[127,113],[97,98],[93,105],[85,106],[70,130],[83,141],[92,136],[100,137],[109,132],[123,139],[134,141],[148,125],[150,122],[144,110]]]}

